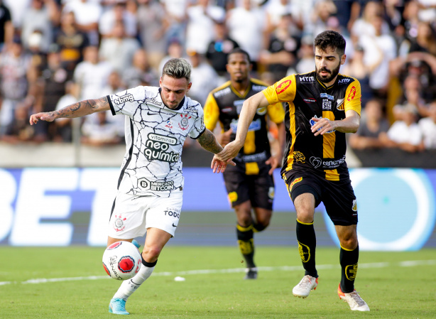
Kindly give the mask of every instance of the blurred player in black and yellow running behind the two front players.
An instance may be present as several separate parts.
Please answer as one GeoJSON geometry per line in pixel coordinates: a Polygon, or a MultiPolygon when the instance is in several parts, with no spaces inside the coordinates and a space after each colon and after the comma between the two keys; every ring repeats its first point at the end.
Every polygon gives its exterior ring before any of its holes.
{"type": "MultiPolygon", "coordinates": [[[[236,48],[227,57],[227,72],[230,81],[210,92],[205,103],[205,125],[214,131],[219,121],[222,146],[236,136],[242,103],[268,85],[249,77],[251,63],[246,51],[236,48]]],[[[278,126],[279,144],[284,141],[285,110],[281,103],[273,103],[258,109],[249,126],[249,136],[239,154],[234,158],[236,166],[224,172],[224,183],[229,202],[236,212],[236,237],[239,249],[246,262],[244,279],[256,279],[254,263],[254,232],[268,227],[273,213],[273,171],[278,167],[282,150],[271,156],[268,141],[268,119],[278,126]],[[281,134],[280,134],[281,133],[281,134]],[[282,138],[283,136],[283,138],[282,138]],[[251,210],[254,211],[252,214],[251,210]]]]}

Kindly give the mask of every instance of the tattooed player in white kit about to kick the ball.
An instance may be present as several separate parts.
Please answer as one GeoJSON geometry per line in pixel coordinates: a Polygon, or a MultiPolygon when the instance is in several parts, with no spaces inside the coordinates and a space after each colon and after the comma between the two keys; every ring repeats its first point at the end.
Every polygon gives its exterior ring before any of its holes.
{"type": "MultiPolygon", "coordinates": [[[[109,313],[129,315],[126,301],[153,272],[158,256],[174,236],[182,207],[182,146],[187,138],[197,139],[207,151],[219,153],[222,146],[205,128],[201,105],[186,97],[190,90],[191,66],[184,59],[165,63],[160,87],[129,90],[71,104],[53,112],[31,115],[38,120],[82,117],[94,112],[124,114],[126,154],[118,180],[118,192],[109,220],[107,246],[132,242],[147,232],[140,271],[121,283],[109,303],[109,313]]],[[[233,162],[229,162],[234,165],[233,162]]],[[[223,172],[227,162],[216,163],[223,172]]]]}

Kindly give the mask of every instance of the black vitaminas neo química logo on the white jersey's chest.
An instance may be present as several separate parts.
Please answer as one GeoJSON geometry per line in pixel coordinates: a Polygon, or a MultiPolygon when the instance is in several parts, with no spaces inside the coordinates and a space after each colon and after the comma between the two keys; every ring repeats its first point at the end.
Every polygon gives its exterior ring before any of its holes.
{"type": "Polygon", "coordinates": [[[168,152],[170,145],[177,144],[177,139],[170,136],[150,133],[146,141],[146,149],[144,155],[148,161],[158,160],[168,163],[176,163],[179,161],[180,154],[172,151],[168,152]]]}

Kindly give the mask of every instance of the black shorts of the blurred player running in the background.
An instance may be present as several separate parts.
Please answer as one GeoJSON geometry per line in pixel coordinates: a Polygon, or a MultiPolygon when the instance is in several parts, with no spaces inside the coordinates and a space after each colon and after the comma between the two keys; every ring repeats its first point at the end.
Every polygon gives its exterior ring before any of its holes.
{"type": "Polygon", "coordinates": [[[273,209],[274,179],[268,174],[271,166],[258,163],[258,168],[258,175],[246,175],[244,163],[227,166],[223,175],[231,207],[250,200],[252,207],[273,209]]]}

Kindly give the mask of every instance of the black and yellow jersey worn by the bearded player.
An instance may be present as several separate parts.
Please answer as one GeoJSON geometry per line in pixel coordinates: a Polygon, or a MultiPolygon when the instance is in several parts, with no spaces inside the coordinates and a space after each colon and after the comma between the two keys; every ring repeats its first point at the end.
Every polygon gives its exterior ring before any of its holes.
{"type": "Polygon", "coordinates": [[[311,126],[315,124],[312,117],[341,120],[350,109],[360,115],[359,81],[339,74],[334,85],[326,87],[313,71],[285,77],[263,90],[263,94],[269,103],[287,102],[283,177],[291,169],[310,169],[327,180],[348,180],[345,134],[329,131],[314,136],[311,126]]]}

